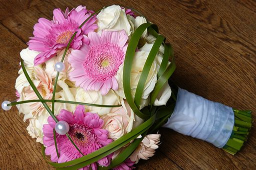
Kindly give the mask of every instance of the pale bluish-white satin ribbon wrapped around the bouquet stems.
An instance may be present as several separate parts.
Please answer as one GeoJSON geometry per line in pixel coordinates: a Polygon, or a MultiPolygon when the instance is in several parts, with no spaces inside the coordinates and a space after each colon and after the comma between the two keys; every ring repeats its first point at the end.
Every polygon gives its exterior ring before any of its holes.
{"type": "Polygon", "coordinates": [[[163,127],[223,147],[234,125],[231,107],[179,88],[174,112],[163,127]]]}

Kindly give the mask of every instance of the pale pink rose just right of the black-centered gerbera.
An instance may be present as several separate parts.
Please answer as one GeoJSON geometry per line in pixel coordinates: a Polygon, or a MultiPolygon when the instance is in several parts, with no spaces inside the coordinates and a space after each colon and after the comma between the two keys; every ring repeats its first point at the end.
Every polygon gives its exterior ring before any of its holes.
{"type": "Polygon", "coordinates": [[[103,128],[109,131],[109,138],[116,140],[132,130],[134,113],[129,104],[123,101],[121,107],[113,107],[110,113],[101,118],[104,120],[103,128]]]}

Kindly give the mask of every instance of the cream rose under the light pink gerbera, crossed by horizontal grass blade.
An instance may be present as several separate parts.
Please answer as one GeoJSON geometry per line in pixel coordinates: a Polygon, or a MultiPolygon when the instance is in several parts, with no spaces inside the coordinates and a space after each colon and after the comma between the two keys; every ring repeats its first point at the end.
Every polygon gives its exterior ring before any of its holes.
{"type": "MultiPolygon", "coordinates": [[[[120,104],[120,97],[116,95],[114,90],[110,89],[106,95],[102,95],[100,91],[88,90],[85,91],[83,88],[78,87],[76,92],[76,101],[103,104],[103,105],[118,105],[120,104]]],[[[107,114],[110,112],[112,107],[97,107],[97,106],[86,106],[86,111],[98,113],[99,115],[107,114]]]]}

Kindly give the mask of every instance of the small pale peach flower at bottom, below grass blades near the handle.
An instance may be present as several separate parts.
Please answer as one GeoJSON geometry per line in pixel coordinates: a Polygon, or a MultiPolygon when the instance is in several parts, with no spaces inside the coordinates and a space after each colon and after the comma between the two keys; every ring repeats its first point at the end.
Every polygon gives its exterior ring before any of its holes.
{"type": "Polygon", "coordinates": [[[149,159],[155,154],[155,149],[158,148],[161,134],[148,134],[146,135],[139,146],[131,154],[130,159],[138,163],[139,159],[149,159]]]}

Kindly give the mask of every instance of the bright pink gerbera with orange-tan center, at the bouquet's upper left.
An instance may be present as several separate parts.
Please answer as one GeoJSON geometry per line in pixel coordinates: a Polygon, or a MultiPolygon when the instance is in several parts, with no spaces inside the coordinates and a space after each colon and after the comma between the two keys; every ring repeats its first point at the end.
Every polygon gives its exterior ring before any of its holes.
{"type": "Polygon", "coordinates": [[[94,24],[96,17],[90,18],[80,29],[79,26],[87,19],[92,11],[85,6],[78,6],[76,9],[66,9],[64,13],[60,8],[54,9],[53,20],[39,18],[34,26],[34,37],[28,42],[29,48],[40,51],[34,60],[34,64],[41,64],[56,55],[56,51],[67,46],[70,38],[77,31],[71,43],[71,48],[78,49],[85,40],[83,34],[94,31],[97,24],[94,24]]]}

